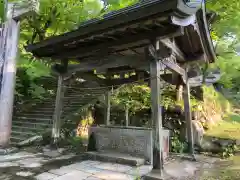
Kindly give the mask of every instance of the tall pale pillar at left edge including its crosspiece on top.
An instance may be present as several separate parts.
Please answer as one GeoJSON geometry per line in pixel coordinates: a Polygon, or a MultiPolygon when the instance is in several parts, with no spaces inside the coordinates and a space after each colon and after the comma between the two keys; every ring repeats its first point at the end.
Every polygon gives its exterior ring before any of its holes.
{"type": "MultiPolygon", "coordinates": [[[[30,1],[29,1],[30,2],[30,1]]],[[[28,3],[29,3],[28,2],[28,3]]],[[[18,41],[20,20],[27,15],[33,15],[38,11],[38,2],[26,4],[25,7],[17,7],[18,3],[7,6],[6,22],[4,23],[4,34],[1,39],[0,67],[2,74],[0,84],[0,146],[7,147],[11,136],[12,111],[15,91],[15,74],[18,55],[18,41]],[[5,39],[6,38],[6,39],[5,39]]]]}

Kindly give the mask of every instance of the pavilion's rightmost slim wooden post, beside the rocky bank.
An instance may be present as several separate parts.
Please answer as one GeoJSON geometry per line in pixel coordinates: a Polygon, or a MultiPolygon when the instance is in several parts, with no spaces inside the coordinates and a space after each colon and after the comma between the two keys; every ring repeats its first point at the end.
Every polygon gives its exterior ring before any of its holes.
{"type": "Polygon", "coordinates": [[[185,113],[185,121],[186,121],[188,151],[191,155],[194,155],[192,114],[191,114],[191,104],[190,104],[190,86],[189,86],[189,81],[187,76],[186,76],[186,84],[184,84],[183,87],[184,87],[184,93],[183,93],[184,113],[185,113]]]}

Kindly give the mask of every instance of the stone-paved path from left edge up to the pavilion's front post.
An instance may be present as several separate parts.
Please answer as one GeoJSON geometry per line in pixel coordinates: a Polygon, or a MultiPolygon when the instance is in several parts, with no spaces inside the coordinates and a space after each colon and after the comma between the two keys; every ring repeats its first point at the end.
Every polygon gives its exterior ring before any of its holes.
{"type": "Polygon", "coordinates": [[[0,180],[135,180],[151,166],[132,167],[85,160],[84,156],[56,152],[18,152],[0,156],[0,180]]]}

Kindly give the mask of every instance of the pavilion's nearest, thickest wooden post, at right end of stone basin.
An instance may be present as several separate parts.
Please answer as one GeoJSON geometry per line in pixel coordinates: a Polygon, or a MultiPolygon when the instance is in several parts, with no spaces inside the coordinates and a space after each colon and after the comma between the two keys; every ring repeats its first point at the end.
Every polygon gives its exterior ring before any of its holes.
{"type": "MultiPolygon", "coordinates": [[[[158,50],[158,47],[155,47],[158,50]]],[[[162,115],[160,106],[160,61],[157,58],[150,62],[150,87],[151,87],[151,108],[153,127],[153,169],[159,170],[160,176],[163,170],[162,158],[162,115]]]]}

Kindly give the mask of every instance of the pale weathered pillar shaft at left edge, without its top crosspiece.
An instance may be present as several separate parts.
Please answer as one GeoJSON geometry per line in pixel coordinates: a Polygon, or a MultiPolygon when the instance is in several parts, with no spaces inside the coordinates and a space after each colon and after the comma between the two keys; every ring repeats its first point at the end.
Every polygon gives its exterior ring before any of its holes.
{"type": "Polygon", "coordinates": [[[7,39],[6,49],[2,49],[3,64],[1,67],[2,77],[0,81],[0,146],[2,147],[8,146],[11,136],[19,29],[20,22],[13,19],[9,19],[6,22],[4,29],[7,39]]]}

